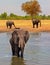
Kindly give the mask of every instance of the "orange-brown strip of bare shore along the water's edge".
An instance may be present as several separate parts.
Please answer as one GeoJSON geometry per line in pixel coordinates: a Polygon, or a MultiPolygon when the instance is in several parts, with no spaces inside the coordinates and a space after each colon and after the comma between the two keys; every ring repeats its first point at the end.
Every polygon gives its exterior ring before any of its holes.
{"type": "MultiPolygon", "coordinates": [[[[0,29],[0,33],[11,32],[14,29],[15,28],[12,28],[12,29],[7,29],[7,28],[3,29],[2,28],[2,29],[0,29]]],[[[21,29],[24,29],[24,30],[27,30],[27,31],[33,32],[33,33],[35,33],[35,32],[50,32],[50,29],[46,29],[46,28],[42,29],[42,27],[41,28],[21,28],[21,29]]]]}

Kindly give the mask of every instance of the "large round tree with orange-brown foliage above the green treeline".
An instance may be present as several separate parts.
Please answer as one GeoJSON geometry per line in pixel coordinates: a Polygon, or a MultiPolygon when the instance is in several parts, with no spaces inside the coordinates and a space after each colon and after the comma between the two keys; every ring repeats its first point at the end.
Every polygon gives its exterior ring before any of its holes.
{"type": "Polygon", "coordinates": [[[37,0],[25,2],[22,4],[21,7],[24,12],[31,15],[32,20],[33,20],[33,16],[35,16],[41,12],[41,7],[37,0]]]}

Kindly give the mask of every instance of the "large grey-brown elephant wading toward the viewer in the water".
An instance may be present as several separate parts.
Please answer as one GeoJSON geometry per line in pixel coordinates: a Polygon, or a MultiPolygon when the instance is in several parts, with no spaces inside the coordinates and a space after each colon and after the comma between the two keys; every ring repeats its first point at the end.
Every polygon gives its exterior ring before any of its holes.
{"type": "Polygon", "coordinates": [[[23,29],[15,29],[10,38],[12,55],[23,58],[24,47],[29,39],[29,32],[23,29]],[[21,52],[21,53],[20,53],[21,52]]]}

